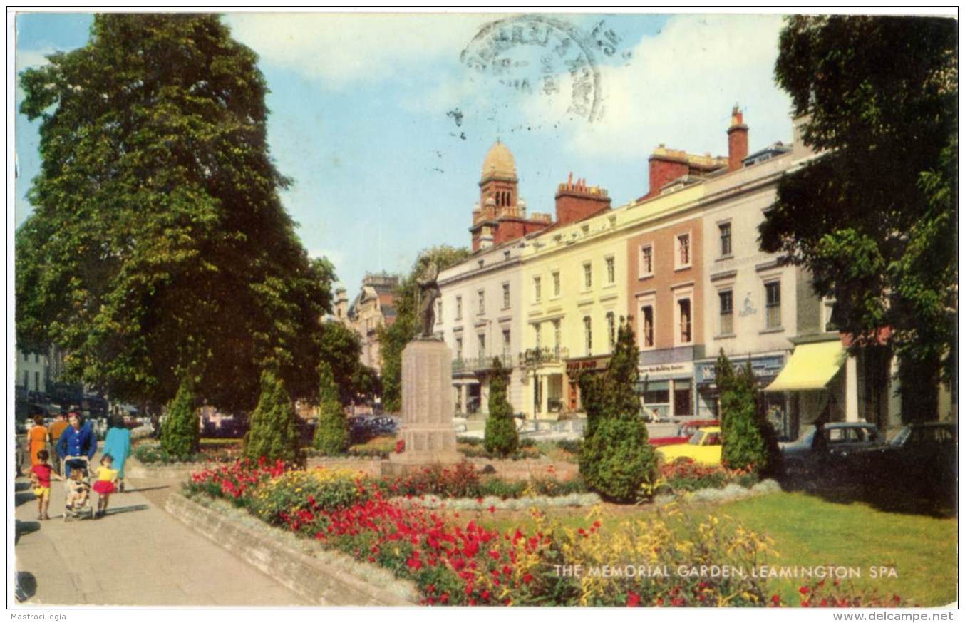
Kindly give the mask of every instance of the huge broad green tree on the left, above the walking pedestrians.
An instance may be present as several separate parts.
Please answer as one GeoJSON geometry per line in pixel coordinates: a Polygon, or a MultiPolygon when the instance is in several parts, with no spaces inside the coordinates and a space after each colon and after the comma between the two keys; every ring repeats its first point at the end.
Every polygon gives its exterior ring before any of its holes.
{"type": "Polygon", "coordinates": [[[331,265],[310,260],[268,154],[256,55],[216,15],[98,14],[90,41],[20,74],[39,119],[16,232],[16,333],[69,377],[166,403],[185,379],[251,409],[271,365],[317,392],[331,265]]]}

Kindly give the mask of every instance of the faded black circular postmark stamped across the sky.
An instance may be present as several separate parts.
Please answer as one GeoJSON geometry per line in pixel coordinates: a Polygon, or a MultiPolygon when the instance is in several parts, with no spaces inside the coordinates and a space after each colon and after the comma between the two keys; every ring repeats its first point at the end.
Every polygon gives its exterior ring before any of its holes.
{"type": "Polygon", "coordinates": [[[593,122],[603,114],[596,58],[615,54],[619,42],[602,21],[584,33],[557,17],[516,15],[484,25],[459,60],[522,94],[568,94],[566,112],[593,122]]]}

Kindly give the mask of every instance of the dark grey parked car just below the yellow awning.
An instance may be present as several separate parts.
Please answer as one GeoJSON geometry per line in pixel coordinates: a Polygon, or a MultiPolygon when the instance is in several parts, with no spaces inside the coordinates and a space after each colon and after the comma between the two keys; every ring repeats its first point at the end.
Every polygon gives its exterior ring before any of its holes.
{"type": "Polygon", "coordinates": [[[884,445],[878,427],[867,422],[830,422],[818,435],[816,426],[809,426],[795,441],[781,444],[788,476],[829,475],[848,476],[849,465],[855,463],[856,452],[884,445]]]}

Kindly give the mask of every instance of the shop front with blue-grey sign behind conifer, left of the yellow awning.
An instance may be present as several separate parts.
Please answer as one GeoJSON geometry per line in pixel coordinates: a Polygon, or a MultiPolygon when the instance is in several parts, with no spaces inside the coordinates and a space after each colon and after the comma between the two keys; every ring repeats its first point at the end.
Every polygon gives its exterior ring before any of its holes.
{"type": "MultiPolygon", "coordinates": [[[[763,389],[777,379],[785,367],[787,355],[785,353],[754,354],[750,356],[751,370],[758,382],[758,388],[763,389]]],[[[731,357],[734,369],[747,365],[747,356],[731,357]]],[[[694,378],[697,382],[697,414],[702,418],[720,417],[720,391],[716,382],[715,365],[717,359],[703,359],[695,362],[694,378]]],[[[797,424],[787,409],[787,399],[783,393],[761,392],[767,419],[774,426],[778,439],[794,439],[797,435],[797,424]]]]}

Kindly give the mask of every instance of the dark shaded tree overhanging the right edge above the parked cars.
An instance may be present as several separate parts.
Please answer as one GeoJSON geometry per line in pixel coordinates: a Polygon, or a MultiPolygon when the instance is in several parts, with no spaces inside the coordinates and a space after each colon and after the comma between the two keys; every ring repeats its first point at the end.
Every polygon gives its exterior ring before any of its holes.
{"type": "Polygon", "coordinates": [[[775,68],[819,156],[779,184],[761,247],[810,269],[854,349],[891,329],[906,420],[955,385],[957,37],[951,18],[798,15],[775,68]]]}

